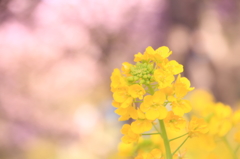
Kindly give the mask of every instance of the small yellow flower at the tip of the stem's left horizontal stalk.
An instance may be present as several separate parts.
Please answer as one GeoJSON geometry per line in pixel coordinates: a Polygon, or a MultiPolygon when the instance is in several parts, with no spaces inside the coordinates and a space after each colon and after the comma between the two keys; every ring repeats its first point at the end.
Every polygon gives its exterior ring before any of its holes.
{"type": "Polygon", "coordinates": [[[137,142],[140,137],[139,134],[136,134],[132,131],[131,126],[129,124],[123,125],[121,133],[124,134],[121,140],[126,144],[137,142]]]}

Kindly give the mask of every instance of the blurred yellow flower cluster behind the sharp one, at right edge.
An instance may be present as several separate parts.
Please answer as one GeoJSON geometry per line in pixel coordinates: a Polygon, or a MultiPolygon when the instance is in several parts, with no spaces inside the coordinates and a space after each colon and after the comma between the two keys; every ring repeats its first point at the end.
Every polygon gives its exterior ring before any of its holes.
{"type": "MultiPolygon", "coordinates": [[[[189,153],[198,152],[192,158],[237,159],[240,157],[240,109],[233,110],[230,106],[215,102],[207,91],[196,90],[190,98],[193,110],[191,115],[201,116],[208,124],[208,133],[189,142],[189,153]],[[211,156],[211,157],[210,157],[211,156]]],[[[204,131],[204,127],[202,130],[204,131]]]]}

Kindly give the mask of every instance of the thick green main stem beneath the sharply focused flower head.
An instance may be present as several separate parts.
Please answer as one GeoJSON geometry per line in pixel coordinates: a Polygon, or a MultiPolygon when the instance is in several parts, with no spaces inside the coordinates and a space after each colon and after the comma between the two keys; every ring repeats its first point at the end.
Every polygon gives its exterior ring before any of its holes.
{"type": "Polygon", "coordinates": [[[166,159],[172,159],[171,148],[170,148],[170,144],[168,141],[167,132],[166,132],[163,120],[159,120],[159,124],[162,130],[162,138],[163,138],[163,142],[166,150],[166,159]]]}

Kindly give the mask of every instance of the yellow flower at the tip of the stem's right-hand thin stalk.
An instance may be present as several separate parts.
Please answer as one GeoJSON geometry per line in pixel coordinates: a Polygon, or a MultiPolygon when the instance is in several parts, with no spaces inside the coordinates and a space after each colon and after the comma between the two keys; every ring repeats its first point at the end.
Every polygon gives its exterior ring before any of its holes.
{"type": "Polygon", "coordinates": [[[208,125],[204,119],[192,117],[188,124],[188,133],[190,137],[199,136],[208,132],[208,125]]]}

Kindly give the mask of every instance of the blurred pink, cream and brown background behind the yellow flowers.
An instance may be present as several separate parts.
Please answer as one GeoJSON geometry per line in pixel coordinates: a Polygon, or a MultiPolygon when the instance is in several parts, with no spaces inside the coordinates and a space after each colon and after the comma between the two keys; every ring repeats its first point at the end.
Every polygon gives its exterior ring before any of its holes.
{"type": "Polygon", "coordinates": [[[0,158],[120,158],[111,72],[163,45],[238,105],[238,0],[0,0],[0,158]]]}

